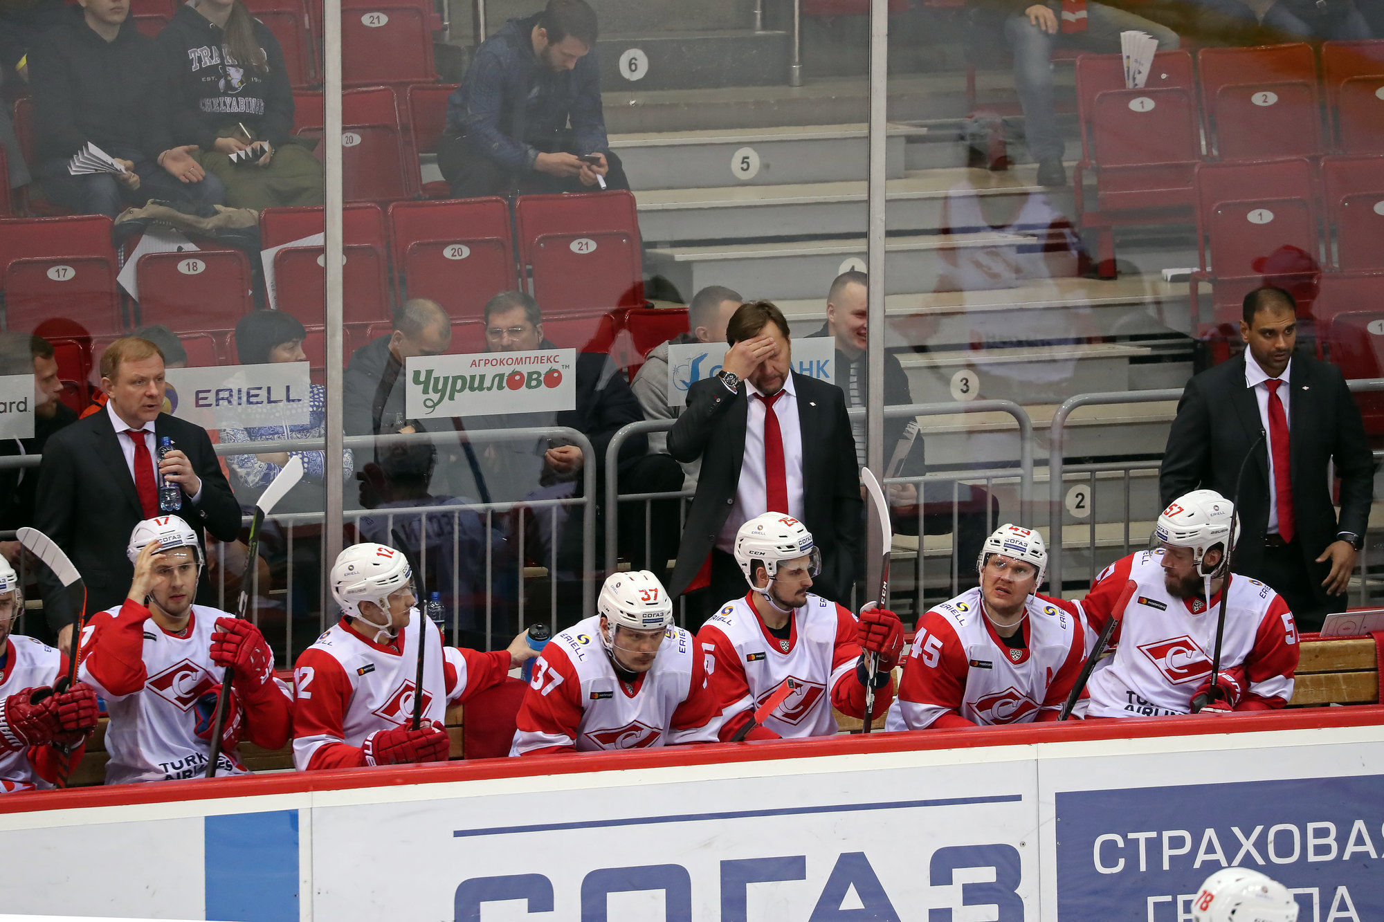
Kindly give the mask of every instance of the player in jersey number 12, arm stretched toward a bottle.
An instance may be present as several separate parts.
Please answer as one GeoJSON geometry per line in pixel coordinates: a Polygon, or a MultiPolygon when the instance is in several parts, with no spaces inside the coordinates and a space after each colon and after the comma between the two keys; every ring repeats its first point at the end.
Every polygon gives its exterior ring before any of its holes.
{"type": "Polygon", "coordinates": [[[408,558],[383,544],[345,548],[331,587],[342,619],[293,667],[299,771],[447,761],[447,707],[502,683],[534,655],[523,634],[489,653],[447,647],[417,608],[408,558]],[[414,730],[419,637],[428,648],[422,720],[414,730]]]}

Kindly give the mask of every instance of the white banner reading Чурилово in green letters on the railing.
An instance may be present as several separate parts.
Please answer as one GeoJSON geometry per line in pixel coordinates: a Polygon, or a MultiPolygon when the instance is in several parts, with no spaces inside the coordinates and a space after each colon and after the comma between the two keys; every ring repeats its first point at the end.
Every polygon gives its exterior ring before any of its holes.
{"type": "Polygon", "coordinates": [[[577,406],[577,350],[414,356],[404,367],[410,419],[561,413],[577,406]]]}

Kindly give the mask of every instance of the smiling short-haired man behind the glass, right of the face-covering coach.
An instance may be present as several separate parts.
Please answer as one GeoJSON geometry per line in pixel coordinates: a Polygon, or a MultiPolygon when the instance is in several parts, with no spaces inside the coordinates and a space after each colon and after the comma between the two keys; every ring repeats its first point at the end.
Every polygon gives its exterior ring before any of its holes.
{"type": "MultiPolygon", "coordinates": [[[[869,404],[869,361],[865,353],[869,332],[869,277],[858,270],[836,277],[826,292],[826,323],[812,336],[836,339],[836,383],[846,393],[850,408],[869,404]]],[[[908,375],[898,356],[884,352],[884,407],[901,407],[913,401],[908,375]]],[[[912,418],[884,418],[884,469],[887,476],[915,476],[923,473],[923,443],[909,435],[912,418]],[[894,458],[900,467],[894,469],[894,458]],[[909,464],[918,458],[916,464],[909,464]]],[[[915,429],[916,433],[916,429],[915,429]]],[[[865,417],[851,421],[855,437],[855,462],[865,467],[865,417]]],[[[931,480],[923,485],[923,505],[918,505],[918,487],[912,483],[891,483],[889,500],[894,530],[918,534],[919,523],[925,534],[951,534],[956,523],[956,573],[969,572],[970,561],[980,554],[981,544],[995,522],[999,508],[984,487],[965,483],[931,480]],[[955,486],[955,508],[952,489],[955,486]],[[987,508],[990,507],[990,508],[987,508]],[[955,518],[954,518],[955,515],[955,518]]],[[[864,545],[859,548],[864,555],[864,545]]],[[[864,566],[864,557],[858,566],[864,566]]],[[[864,573],[864,569],[861,570],[864,573]]]]}

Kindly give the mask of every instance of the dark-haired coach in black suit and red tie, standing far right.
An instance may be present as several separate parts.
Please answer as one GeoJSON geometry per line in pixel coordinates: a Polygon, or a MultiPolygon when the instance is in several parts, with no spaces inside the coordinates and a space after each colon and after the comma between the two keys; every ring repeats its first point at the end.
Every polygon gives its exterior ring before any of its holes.
{"type": "Polygon", "coordinates": [[[1203,371],[1178,404],[1158,476],[1164,505],[1197,487],[1235,496],[1235,572],[1272,586],[1302,630],[1345,611],[1345,588],[1369,523],[1374,461],[1341,372],[1294,354],[1293,296],[1265,287],[1244,299],[1243,356],[1203,371]],[[1282,383],[1279,383],[1282,382],[1282,383]],[[1286,401],[1284,401],[1286,399],[1286,401]],[[1257,446],[1259,439],[1265,446],[1257,446]],[[1341,479],[1341,518],[1327,464],[1341,479]]]}

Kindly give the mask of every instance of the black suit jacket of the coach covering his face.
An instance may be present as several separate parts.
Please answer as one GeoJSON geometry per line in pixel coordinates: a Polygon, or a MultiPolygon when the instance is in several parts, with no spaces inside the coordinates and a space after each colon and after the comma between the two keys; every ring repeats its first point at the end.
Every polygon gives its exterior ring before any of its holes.
{"type": "MultiPolygon", "coordinates": [[[[844,602],[855,581],[864,504],[855,439],[841,389],[793,372],[803,431],[803,525],[822,554],[814,593],[844,602]]],[[[745,385],[735,395],[720,379],[699,381],[668,432],[668,454],[678,461],[702,458],[696,494],[688,514],[668,591],[681,595],[702,569],[725,525],[745,461],[749,403],[745,385]]]]}

